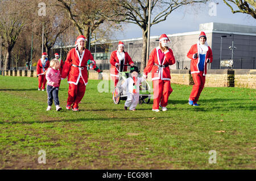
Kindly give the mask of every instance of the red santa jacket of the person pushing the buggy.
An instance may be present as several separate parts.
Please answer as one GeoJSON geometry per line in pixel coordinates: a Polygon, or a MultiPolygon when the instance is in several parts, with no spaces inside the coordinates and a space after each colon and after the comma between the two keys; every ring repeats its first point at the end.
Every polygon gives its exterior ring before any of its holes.
{"type": "MultiPolygon", "coordinates": [[[[110,75],[118,77],[118,70],[115,68],[115,65],[121,64],[121,60],[119,60],[117,57],[117,50],[111,53],[110,64],[111,64],[110,75]]],[[[123,64],[129,64],[129,65],[134,64],[133,60],[131,60],[131,57],[127,52],[125,52],[125,61],[123,62],[123,64]]],[[[127,66],[123,66],[122,71],[127,71],[127,66]]]]}

